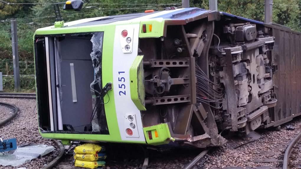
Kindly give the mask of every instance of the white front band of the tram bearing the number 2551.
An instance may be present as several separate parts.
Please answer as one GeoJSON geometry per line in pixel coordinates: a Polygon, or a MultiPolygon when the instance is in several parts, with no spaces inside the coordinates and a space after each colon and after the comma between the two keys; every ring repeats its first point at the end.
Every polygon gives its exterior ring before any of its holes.
{"type": "Polygon", "coordinates": [[[138,55],[139,24],[116,25],[113,49],[113,88],[115,109],[120,131],[120,137],[124,141],[144,141],[141,113],[131,99],[129,70],[138,55]],[[132,52],[123,53],[122,42],[126,38],[121,36],[123,30],[128,31],[128,36],[132,37],[132,52]],[[131,31],[131,32],[130,32],[131,31]],[[126,129],[130,127],[127,119],[128,115],[133,115],[136,121],[133,135],[126,134],[126,129]]]}

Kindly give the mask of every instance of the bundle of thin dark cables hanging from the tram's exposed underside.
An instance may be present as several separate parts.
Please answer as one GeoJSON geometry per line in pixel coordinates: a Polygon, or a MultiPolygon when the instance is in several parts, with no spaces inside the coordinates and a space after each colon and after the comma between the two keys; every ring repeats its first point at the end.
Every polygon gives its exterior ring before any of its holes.
{"type": "Polygon", "coordinates": [[[212,82],[203,72],[203,70],[196,64],[196,77],[197,77],[197,101],[207,104],[213,108],[216,107],[210,103],[223,103],[223,98],[225,96],[224,90],[221,86],[216,85],[212,82]]]}

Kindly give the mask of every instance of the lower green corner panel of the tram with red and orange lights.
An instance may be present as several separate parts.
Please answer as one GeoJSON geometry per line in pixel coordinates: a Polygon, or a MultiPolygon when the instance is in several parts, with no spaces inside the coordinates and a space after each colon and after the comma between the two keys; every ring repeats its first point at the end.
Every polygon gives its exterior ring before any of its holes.
{"type": "Polygon", "coordinates": [[[173,138],[170,135],[167,123],[161,123],[155,126],[144,127],[143,132],[147,144],[152,145],[162,145],[168,144],[173,138]],[[149,138],[148,132],[151,131],[152,139],[149,138]],[[156,137],[155,132],[157,131],[158,137],[156,137]]]}

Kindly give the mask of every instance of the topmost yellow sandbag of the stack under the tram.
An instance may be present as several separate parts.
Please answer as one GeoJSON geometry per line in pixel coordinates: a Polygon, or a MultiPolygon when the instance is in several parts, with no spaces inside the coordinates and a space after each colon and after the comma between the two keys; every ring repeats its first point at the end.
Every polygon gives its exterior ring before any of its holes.
{"type": "Polygon", "coordinates": [[[97,154],[101,151],[104,151],[104,147],[93,143],[83,144],[74,149],[74,153],[76,154],[97,154]]]}

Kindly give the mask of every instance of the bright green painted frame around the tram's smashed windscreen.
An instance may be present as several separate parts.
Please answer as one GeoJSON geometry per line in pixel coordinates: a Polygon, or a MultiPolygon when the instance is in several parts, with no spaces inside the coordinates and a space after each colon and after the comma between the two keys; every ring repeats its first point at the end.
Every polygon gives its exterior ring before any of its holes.
{"type": "MultiPolygon", "coordinates": [[[[104,43],[102,54],[102,84],[105,85],[108,82],[113,82],[113,46],[115,36],[116,25],[94,25],[94,26],[82,26],[82,27],[63,27],[63,28],[41,28],[38,29],[36,35],[50,35],[50,34],[71,34],[79,32],[100,32],[104,31],[104,43]]],[[[114,90],[114,88],[113,88],[114,90]]],[[[110,101],[104,105],[106,112],[107,125],[109,129],[109,135],[100,134],[70,134],[70,133],[42,133],[40,134],[44,138],[53,138],[60,140],[89,140],[89,141],[108,141],[119,143],[140,143],[145,144],[145,141],[123,141],[121,140],[116,110],[114,102],[113,90],[110,90],[104,97],[104,102],[107,102],[109,97],[110,101]]]]}

